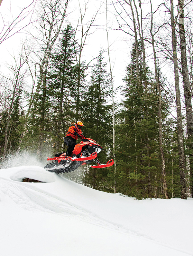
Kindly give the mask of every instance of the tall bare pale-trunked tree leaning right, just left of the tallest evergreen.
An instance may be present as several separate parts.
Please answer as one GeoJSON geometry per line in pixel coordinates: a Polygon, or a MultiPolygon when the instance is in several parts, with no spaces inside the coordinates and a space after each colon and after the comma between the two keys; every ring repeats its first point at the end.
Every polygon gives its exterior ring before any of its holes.
{"type": "MultiPolygon", "coordinates": [[[[48,64],[51,57],[51,51],[58,35],[60,34],[61,26],[66,16],[66,10],[69,0],[40,0],[39,1],[39,36],[33,35],[40,44],[40,72],[37,83],[36,92],[33,96],[33,104],[39,103],[38,115],[41,118],[40,139],[38,153],[42,152],[43,145],[43,129],[45,125],[45,102],[47,96],[46,75],[48,64]],[[40,97],[41,89],[41,97],[40,97]]],[[[35,109],[35,108],[34,108],[35,109]]]]}

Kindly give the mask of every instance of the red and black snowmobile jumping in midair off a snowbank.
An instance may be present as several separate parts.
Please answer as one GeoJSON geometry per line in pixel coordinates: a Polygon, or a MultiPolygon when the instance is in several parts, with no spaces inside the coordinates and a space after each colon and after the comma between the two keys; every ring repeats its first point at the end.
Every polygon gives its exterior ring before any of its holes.
{"type": "Polygon", "coordinates": [[[66,158],[66,153],[56,154],[55,157],[47,158],[48,161],[53,161],[44,168],[48,172],[65,173],[71,172],[82,164],[96,163],[92,168],[105,168],[114,164],[113,159],[109,160],[106,164],[101,164],[98,159],[98,153],[103,150],[96,141],[86,138],[87,141],[82,140],[79,144],[75,145],[72,156],[66,158]]]}

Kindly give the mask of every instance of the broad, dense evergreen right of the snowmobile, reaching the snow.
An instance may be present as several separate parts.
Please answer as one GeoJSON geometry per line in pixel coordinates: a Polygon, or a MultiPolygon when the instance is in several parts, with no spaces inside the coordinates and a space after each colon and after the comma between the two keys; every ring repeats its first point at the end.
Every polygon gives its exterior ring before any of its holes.
{"type": "MultiPolygon", "coordinates": [[[[155,196],[155,179],[161,179],[158,133],[158,91],[149,68],[142,66],[142,46],[138,43],[138,80],[136,47],[127,66],[124,101],[117,126],[120,162],[117,191],[137,198],[155,196]]],[[[163,111],[164,112],[164,111],[163,111]]]]}

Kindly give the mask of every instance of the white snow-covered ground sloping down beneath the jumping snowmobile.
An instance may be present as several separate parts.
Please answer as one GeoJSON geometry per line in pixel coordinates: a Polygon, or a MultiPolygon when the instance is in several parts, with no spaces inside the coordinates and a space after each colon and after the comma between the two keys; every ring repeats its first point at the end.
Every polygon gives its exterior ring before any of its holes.
{"type": "Polygon", "coordinates": [[[0,170],[0,219],[2,256],[193,255],[191,198],[137,201],[38,166],[0,170]]]}

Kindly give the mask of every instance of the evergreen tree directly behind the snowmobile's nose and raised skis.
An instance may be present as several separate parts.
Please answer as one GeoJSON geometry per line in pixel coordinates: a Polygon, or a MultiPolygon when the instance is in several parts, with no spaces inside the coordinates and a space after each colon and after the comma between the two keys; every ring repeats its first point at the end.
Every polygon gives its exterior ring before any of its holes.
{"type": "MultiPolygon", "coordinates": [[[[112,105],[108,104],[108,96],[111,94],[110,80],[103,60],[104,57],[100,52],[97,63],[92,69],[87,92],[83,97],[82,116],[83,133],[102,146],[104,151],[100,153],[100,161],[106,162],[111,154],[109,149],[112,148],[112,105]]],[[[84,183],[94,189],[107,191],[107,174],[107,169],[96,171],[94,168],[87,168],[84,183]]]]}

